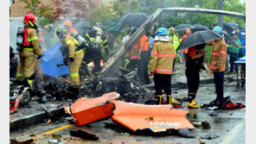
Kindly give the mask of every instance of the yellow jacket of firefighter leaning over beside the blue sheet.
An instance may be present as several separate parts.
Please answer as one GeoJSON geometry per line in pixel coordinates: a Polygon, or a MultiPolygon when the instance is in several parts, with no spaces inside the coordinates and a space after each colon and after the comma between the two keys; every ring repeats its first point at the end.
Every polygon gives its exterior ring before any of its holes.
{"type": "Polygon", "coordinates": [[[64,46],[68,49],[67,58],[74,58],[74,55],[76,53],[80,53],[80,51],[83,51],[82,49],[77,52],[75,51],[77,46],[79,45],[79,42],[76,41],[74,37],[72,37],[70,34],[64,34],[61,42],[63,42],[64,46]]]}

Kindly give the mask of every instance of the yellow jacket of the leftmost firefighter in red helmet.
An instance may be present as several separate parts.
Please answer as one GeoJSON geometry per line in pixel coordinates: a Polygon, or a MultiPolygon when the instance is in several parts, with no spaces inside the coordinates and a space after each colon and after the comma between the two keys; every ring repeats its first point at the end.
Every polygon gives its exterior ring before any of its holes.
{"type": "Polygon", "coordinates": [[[28,41],[29,41],[29,45],[32,46],[32,48],[30,47],[24,47],[23,49],[32,49],[33,51],[35,51],[35,54],[37,55],[41,55],[41,49],[39,47],[39,42],[38,42],[38,37],[36,34],[36,30],[35,28],[28,28],[28,41]]]}

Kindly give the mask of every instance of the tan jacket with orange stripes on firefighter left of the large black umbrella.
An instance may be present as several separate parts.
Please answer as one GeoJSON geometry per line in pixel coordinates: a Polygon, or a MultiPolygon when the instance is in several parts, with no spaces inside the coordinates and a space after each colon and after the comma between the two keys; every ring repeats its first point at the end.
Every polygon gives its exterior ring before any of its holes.
{"type": "Polygon", "coordinates": [[[157,41],[150,53],[150,72],[172,74],[173,60],[176,58],[170,42],[157,41]]]}

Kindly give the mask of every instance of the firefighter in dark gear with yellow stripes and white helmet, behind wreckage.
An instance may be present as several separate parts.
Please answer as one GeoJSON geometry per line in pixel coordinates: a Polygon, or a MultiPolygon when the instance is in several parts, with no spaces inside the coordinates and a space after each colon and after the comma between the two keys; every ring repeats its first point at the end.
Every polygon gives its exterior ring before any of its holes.
{"type": "Polygon", "coordinates": [[[100,60],[102,59],[101,48],[104,48],[106,55],[108,55],[108,45],[107,39],[101,29],[102,23],[96,22],[96,26],[93,26],[92,31],[88,34],[85,34],[86,42],[89,44],[89,47],[85,49],[85,61],[86,64],[90,63],[93,59],[94,69],[93,74],[95,76],[99,75],[100,72],[100,60]]]}

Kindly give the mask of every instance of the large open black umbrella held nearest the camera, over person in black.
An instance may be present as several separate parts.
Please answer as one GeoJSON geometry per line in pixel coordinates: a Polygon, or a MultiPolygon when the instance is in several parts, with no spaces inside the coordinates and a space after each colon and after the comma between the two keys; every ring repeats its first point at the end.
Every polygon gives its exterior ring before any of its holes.
{"type": "Polygon", "coordinates": [[[213,32],[212,30],[198,31],[185,38],[177,49],[182,50],[184,48],[197,46],[220,38],[222,38],[221,35],[213,32]]]}

